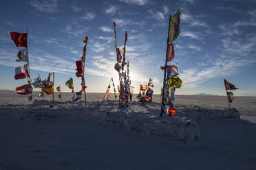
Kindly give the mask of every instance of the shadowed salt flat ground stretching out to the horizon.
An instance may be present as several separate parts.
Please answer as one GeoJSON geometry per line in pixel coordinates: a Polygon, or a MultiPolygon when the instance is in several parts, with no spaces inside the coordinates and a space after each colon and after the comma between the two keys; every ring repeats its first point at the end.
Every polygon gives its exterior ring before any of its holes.
{"type": "MultiPolygon", "coordinates": [[[[228,112],[226,97],[177,95],[175,117],[165,115],[162,121],[177,123],[191,114],[200,140],[184,143],[143,133],[140,127],[136,130],[142,132],[131,131],[122,117],[106,117],[109,114],[103,112],[115,115],[122,110],[114,101],[98,102],[103,94],[87,93],[87,110],[83,103],[67,102],[71,96],[63,93],[63,101],[56,99],[50,109],[1,91],[0,169],[256,169],[256,97],[235,98],[232,107],[241,119],[208,119],[198,115],[228,112]],[[100,121],[101,115],[111,119],[100,121]]],[[[132,102],[127,119],[134,123],[134,117],[141,119],[138,113],[151,116],[142,117],[147,121],[158,121],[153,115],[158,114],[159,101],[155,95],[152,104],[132,102]]]]}

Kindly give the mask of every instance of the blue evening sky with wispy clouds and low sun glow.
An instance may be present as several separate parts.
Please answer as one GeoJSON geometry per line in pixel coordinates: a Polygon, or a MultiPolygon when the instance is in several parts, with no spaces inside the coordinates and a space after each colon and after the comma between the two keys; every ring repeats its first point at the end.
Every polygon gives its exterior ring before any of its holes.
{"type": "MultiPolygon", "coordinates": [[[[182,87],[177,95],[207,93],[225,95],[223,79],[233,83],[236,96],[256,96],[256,1],[255,0],[111,0],[68,1],[30,0],[0,2],[0,89],[14,90],[27,80],[14,80],[19,49],[10,32],[26,32],[32,78],[44,80],[55,72],[55,86],[71,91],[65,82],[72,77],[75,90],[76,60],[81,60],[83,38],[88,36],[85,64],[87,92],[104,93],[111,77],[118,84],[114,69],[117,46],[123,47],[130,64],[131,84],[153,78],[154,93],[162,87],[169,15],[181,8],[180,36],[174,43],[182,87]]],[[[39,88],[34,88],[39,90],[39,88]]],[[[111,88],[113,93],[113,88],[111,88]]]]}

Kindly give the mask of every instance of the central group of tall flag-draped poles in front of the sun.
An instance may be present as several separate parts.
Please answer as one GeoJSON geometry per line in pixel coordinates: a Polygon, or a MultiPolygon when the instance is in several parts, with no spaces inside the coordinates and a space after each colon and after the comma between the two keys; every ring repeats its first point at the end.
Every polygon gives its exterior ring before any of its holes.
{"type": "Polygon", "coordinates": [[[113,23],[113,24],[114,24],[114,34],[115,34],[114,47],[116,47],[116,64],[114,68],[116,69],[116,71],[118,71],[118,75],[119,75],[119,84],[118,84],[119,104],[120,106],[122,104],[125,104],[125,106],[129,108],[129,99],[130,100],[132,99],[132,95],[134,93],[134,87],[131,86],[131,80],[129,77],[129,61],[126,62],[126,58],[125,58],[126,42],[129,36],[127,32],[125,32],[125,45],[124,47],[122,47],[122,54],[121,54],[120,49],[117,47],[117,43],[116,43],[116,23],[113,23]],[[127,65],[127,71],[125,71],[125,65],[127,65]]]}

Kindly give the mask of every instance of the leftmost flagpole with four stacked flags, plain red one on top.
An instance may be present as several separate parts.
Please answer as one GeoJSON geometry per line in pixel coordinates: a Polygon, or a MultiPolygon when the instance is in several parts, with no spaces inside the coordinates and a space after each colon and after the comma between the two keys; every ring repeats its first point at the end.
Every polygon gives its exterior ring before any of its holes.
{"type": "Polygon", "coordinates": [[[16,60],[17,62],[27,62],[27,64],[24,64],[22,66],[18,66],[15,69],[15,75],[14,79],[19,80],[19,79],[24,79],[28,77],[28,84],[24,84],[23,86],[19,86],[15,89],[15,91],[19,95],[30,95],[28,97],[28,100],[32,100],[32,91],[33,88],[31,86],[31,79],[30,79],[30,67],[29,67],[29,60],[28,60],[28,33],[19,33],[19,32],[11,32],[10,37],[14,41],[16,47],[23,47],[25,49],[19,50],[17,53],[18,59],[16,60]]]}

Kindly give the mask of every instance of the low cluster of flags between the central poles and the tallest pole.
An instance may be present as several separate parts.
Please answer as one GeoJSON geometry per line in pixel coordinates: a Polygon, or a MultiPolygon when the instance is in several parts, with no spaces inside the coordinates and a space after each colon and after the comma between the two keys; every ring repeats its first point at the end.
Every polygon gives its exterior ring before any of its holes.
{"type": "Polygon", "coordinates": [[[153,99],[153,79],[149,78],[148,84],[140,84],[140,92],[137,96],[140,102],[150,102],[153,99]]]}

